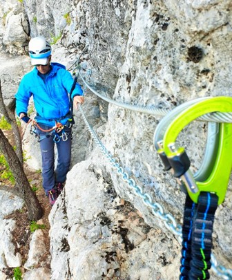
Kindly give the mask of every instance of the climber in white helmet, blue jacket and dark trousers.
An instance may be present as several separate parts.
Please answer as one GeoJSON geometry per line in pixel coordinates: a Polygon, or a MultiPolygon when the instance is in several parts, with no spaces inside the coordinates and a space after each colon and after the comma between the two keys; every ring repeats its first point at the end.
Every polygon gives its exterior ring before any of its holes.
{"type": "Polygon", "coordinates": [[[81,86],[73,81],[64,65],[51,63],[52,48],[44,37],[32,38],[28,46],[32,71],[23,76],[16,97],[19,119],[28,122],[28,103],[33,97],[37,115],[36,133],[42,158],[43,189],[54,205],[61,193],[70,167],[72,104],[84,103],[81,86]],[[72,92],[71,92],[72,88],[72,92]],[[70,93],[70,98],[68,96],[70,93]],[[58,129],[52,129],[59,124],[58,129]],[[49,131],[49,132],[48,132],[49,131]],[[55,167],[55,143],[57,166],[55,167]]]}

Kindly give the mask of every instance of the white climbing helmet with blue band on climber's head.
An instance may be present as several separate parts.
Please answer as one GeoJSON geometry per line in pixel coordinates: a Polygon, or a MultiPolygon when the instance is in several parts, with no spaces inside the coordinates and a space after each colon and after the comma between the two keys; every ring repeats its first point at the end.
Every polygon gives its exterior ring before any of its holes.
{"type": "Polygon", "coordinates": [[[52,48],[44,37],[32,38],[29,42],[28,50],[32,65],[48,64],[48,57],[52,53],[52,48]]]}

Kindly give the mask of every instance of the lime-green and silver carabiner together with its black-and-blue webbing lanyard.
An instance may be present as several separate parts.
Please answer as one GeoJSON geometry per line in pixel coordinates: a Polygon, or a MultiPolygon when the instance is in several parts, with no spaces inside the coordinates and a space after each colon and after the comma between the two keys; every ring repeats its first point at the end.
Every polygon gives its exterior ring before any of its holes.
{"type": "Polygon", "coordinates": [[[232,167],[232,124],[220,123],[207,139],[205,167],[193,176],[184,148],[175,140],[187,124],[210,112],[231,112],[231,97],[209,97],[189,102],[166,116],[155,131],[155,148],[165,169],[172,169],[177,182],[186,193],[182,226],[182,259],[180,279],[209,279],[212,233],[215,211],[226,194],[232,167]],[[188,106],[187,109],[186,106],[188,106]],[[168,119],[171,123],[167,126],[168,119]],[[163,133],[166,129],[165,133],[163,133]],[[163,139],[161,140],[161,138],[163,139]],[[213,144],[211,144],[213,143],[213,144]],[[213,147],[213,148],[212,148],[213,147]]]}

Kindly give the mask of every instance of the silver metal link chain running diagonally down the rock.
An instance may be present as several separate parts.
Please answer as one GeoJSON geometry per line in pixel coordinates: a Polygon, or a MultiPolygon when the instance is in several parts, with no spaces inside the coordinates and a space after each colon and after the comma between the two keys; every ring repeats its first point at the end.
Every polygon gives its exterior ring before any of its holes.
{"type": "MultiPolygon", "coordinates": [[[[144,193],[144,190],[139,185],[136,185],[135,180],[133,178],[130,178],[128,173],[124,171],[124,168],[119,165],[117,160],[113,158],[112,154],[106,149],[104,144],[102,144],[101,140],[99,140],[97,134],[93,130],[93,128],[88,123],[88,120],[86,119],[86,115],[84,114],[84,111],[79,104],[79,109],[81,111],[82,118],[84,119],[84,122],[88,128],[88,131],[90,132],[91,136],[93,136],[93,139],[95,140],[97,146],[100,148],[101,152],[106,156],[110,164],[113,166],[114,169],[116,169],[117,174],[122,176],[122,180],[124,180],[126,183],[128,183],[128,186],[133,189],[135,194],[143,199],[143,203],[147,205],[148,207],[151,207],[153,214],[160,219],[160,221],[164,222],[164,225],[166,228],[172,232],[176,237],[178,242],[182,243],[182,226],[177,224],[175,221],[175,218],[171,214],[166,214],[164,212],[164,208],[159,203],[154,203],[153,198],[151,198],[150,194],[144,193]]],[[[211,268],[215,274],[218,275],[221,279],[225,280],[231,280],[232,279],[232,270],[224,268],[222,265],[218,264],[218,261],[215,259],[215,256],[211,254],[211,268]]]]}

